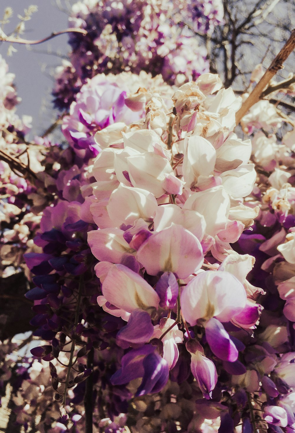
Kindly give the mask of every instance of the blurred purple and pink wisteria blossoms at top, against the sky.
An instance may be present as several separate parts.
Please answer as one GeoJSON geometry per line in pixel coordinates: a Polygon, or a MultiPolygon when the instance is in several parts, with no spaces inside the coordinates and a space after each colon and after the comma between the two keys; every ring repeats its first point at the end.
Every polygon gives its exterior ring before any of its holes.
{"type": "Polygon", "coordinates": [[[58,69],[55,105],[68,107],[81,82],[100,73],[162,74],[170,84],[194,80],[208,71],[206,49],[193,31],[212,32],[222,22],[220,1],[89,0],[72,6],[71,63],[58,69]]]}

